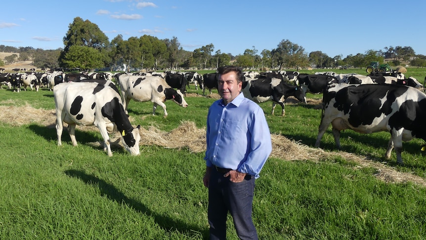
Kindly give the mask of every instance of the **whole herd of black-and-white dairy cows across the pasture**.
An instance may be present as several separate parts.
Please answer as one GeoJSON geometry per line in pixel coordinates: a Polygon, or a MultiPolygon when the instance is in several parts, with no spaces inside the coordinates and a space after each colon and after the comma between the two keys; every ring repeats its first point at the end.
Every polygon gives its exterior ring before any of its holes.
{"type": "MultiPolygon", "coordinates": [[[[63,122],[69,125],[73,145],[77,145],[76,125],[95,125],[104,139],[104,150],[112,156],[108,136],[112,131],[122,134],[122,143],[130,154],[139,154],[140,126],[133,127],[128,121],[130,99],[152,101],[153,114],[160,105],[167,117],[166,100],[187,107],[186,87],[193,83],[196,89],[199,86],[203,90],[203,95],[206,89],[212,93],[217,89],[217,77],[217,73],[201,75],[172,71],[116,74],[51,71],[1,73],[0,83],[16,92],[27,87],[38,91],[43,86],[53,90],[58,145],[61,145],[63,122]]],[[[390,152],[395,148],[397,163],[402,165],[402,142],[413,138],[426,141],[423,85],[413,77],[405,78],[402,73],[373,72],[364,76],[334,72],[247,71],[245,77],[244,96],[257,103],[272,101],[272,114],[279,104],[281,115],[285,115],[284,101],[289,96],[306,103],[306,93],[322,93],[323,109],[316,147],[330,124],[338,148],[341,148],[342,130],[359,133],[386,131],[391,137],[385,157],[390,158],[390,152]]]]}

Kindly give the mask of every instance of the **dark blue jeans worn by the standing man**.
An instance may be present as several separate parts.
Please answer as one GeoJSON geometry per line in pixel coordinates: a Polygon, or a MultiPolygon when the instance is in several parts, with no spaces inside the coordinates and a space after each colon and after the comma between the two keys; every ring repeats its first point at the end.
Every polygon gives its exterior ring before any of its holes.
{"type": "Polygon", "coordinates": [[[232,183],[214,167],[210,175],[209,209],[211,240],[226,240],[226,218],[228,211],[234,220],[240,239],[257,240],[256,227],[252,220],[255,177],[246,175],[241,183],[232,183]]]}

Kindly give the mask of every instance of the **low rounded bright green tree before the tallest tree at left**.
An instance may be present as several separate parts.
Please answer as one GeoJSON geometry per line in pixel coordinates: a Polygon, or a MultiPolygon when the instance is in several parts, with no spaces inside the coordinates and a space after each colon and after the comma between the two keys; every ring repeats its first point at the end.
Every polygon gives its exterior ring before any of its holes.
{"type": "Polygon", "coordinates": [[[70,69],[94,70],[103,66],[102,54],[86,46],[71,46],[65,54],[63,64],[70,69]]]}

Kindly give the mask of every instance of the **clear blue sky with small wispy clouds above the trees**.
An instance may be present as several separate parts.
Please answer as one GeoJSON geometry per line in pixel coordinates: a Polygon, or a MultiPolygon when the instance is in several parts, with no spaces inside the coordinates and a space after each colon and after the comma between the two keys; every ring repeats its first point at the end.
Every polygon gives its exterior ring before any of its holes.
{"type": "Polygon", "coordinates": [[[424,0],[18,0],[1,3],[0,45],[63,48],[75,17],[98,25],[111,41],[144,34],[176,37],[188,51],[243,54],[282,40],[330,57],[384,47],[426,55],[424,0]],[[404,3],[403,3],[404,2],[404,3]]]}

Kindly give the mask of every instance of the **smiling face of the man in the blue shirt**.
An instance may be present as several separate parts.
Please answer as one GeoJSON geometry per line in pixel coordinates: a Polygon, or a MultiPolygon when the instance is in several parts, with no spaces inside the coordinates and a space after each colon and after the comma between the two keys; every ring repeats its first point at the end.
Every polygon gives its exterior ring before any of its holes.
{"type": "Polygon", "coordinates": [[[242,82],[237,81],[237,73],[231,71],[226,74],[220,74],[217,82],[219,95],[223,103],[228,104],[240,94],[242,82]]]}

